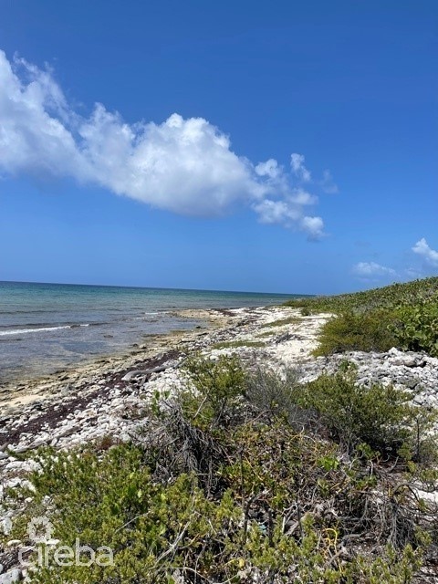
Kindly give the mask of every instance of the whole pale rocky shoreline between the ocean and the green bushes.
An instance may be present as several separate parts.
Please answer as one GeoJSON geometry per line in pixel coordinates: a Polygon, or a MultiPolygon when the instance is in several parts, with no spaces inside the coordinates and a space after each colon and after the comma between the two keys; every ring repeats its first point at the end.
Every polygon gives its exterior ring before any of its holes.
{"type": "MultiPolygon", "coordinates": [[[[438,359],[397,349],[311,357],[328,314],[303,317],[299,310],[286,307],[184,312],[188,318],[195,313],[208,328],[157,336],[130,355],[32,381],[28,387],[20,384],[18,391],[9,388],[8,394],[4,389],[0,397],[0,535],[3,530],[7,536],[14,518],[2,506],[7,489],[26,484],[26,474],[36,468],[31,457],[23,460],[20,454],[42,445],[68,449],[92,441],[129,441],[152,396],[181,386],[180,367],[193,351],[213,357],[235,352],[248,367],[268,367],[279,374],[294,368],[302,381],[334,372],[348,359],[356,364],[361,383],[392,382],[412,391],[412,401],[420,407],[438,405],[438,359]]],[[[0,584],[22,577],[0,550],[0,584]]]]}

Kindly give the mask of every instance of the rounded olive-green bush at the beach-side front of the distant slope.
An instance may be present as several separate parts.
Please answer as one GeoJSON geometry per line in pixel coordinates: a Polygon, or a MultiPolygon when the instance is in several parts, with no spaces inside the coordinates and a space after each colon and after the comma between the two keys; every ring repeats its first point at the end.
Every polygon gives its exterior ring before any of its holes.
{"type": "Polygon", "coordinates": [[[331,355],[349,350],[386,351],[397,345],[391,332],[394,315],[388,310],[366,313],[343,312],[324,325],[315,355],[331,355]]]}

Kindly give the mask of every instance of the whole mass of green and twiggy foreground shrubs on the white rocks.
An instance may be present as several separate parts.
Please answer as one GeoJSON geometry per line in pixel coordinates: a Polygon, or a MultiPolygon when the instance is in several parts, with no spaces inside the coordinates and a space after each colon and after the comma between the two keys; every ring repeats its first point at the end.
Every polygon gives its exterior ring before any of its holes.
{"type": "Polygon", "coordinates": [[[186,388],[156,396],[133,443],[39,452],[8,537],[47,515],[60,545],[109,546],[114,563],[49,562],[32,582],[414,582],[438,516],[414,490],[422,433],[402,393],[360,390],[349,366],[305,387],[235,357],[184,370],[186,388]]]}

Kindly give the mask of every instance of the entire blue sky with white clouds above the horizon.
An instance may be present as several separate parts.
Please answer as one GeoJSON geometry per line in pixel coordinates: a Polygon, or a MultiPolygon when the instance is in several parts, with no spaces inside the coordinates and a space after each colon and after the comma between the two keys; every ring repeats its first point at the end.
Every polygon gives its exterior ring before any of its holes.
{"type": "Polygon", "coordinates": [[[0,0],[0,279],[438,273],[438,5],[0,0]]]}

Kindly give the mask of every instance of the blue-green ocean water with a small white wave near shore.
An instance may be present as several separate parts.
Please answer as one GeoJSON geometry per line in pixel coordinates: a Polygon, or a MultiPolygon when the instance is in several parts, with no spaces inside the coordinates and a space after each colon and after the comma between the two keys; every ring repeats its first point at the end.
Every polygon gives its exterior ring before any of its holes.
{"type": "Polygon", "coordinates": [[[297,295],[0,282],[0,383],[123,352],[150,334],[194,328],[181,308],[280,304],[297,295]]]}

